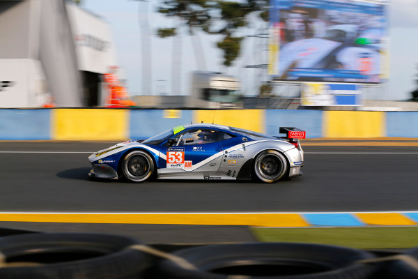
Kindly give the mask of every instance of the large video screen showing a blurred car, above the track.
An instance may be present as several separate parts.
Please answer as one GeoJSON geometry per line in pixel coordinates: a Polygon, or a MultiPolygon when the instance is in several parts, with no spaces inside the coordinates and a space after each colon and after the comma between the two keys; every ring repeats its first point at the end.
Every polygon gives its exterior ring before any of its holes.
{"type": "Polygon", "coordinates": [[[272,0],[269,74],[299,82],[379,83],[387,77],[386,5],[272,0]]]}

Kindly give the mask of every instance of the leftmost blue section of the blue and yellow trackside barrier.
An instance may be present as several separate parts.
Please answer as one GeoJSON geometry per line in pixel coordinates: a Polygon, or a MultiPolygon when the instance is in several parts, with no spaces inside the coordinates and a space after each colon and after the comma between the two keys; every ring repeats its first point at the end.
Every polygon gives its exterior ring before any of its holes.
{"type": "Polygon", "coordinates": [[[51,140],[50,110],[0,110],[0,140],[51,140]]]}

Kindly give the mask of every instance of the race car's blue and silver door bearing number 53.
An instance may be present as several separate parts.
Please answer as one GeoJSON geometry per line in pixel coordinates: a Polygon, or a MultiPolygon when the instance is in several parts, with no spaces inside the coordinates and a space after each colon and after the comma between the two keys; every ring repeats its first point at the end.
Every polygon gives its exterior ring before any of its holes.
{"type": "Polygon", "coordinates": [[[222,137],[219,133],[222,132],[193,128],[176,135],[176,143],[165,146],[166,160],[161,162],[160,177],[220,179],[216,176],[222,160],[222,145],[219,143],[222,137]]]}

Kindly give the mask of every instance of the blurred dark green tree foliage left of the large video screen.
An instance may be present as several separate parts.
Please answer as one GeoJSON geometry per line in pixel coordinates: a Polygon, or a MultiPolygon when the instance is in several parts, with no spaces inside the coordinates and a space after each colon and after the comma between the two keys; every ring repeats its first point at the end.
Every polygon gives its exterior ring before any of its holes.
{"type": "MultiPolygon", "coordinates": [[[[243,37],[239,29],[248,27],[248,16],[257,13],[262,20],[268,18],[268,0],[164,0],[158,11],[167,17],[178,17],[192,35],[194,30],[220,34],[217,47],[224,53],[223,64],[231,66],[240,56],[243,37]]],[[[175,36],[178,27],[160,28],[157,35],[165,38],[175,36]]]]}

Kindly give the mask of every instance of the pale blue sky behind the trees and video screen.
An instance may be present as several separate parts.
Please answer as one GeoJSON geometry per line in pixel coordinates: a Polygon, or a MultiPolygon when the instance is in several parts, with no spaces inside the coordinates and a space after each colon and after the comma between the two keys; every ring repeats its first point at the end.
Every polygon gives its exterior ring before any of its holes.
{"type": "MultiPolygon", "coordinates": [[[[245,96],[258,94],[259,82],[268,80],[267,71],[245,68],[245,66],[266,63],[265,38],[245,38],[240,59],[235,61],[233,66],[225,67],[222,66],[222,52],[215,47],[219,36],[210,36],[199,31],[196,32],[197,38],[193,39],[183,30],[180,38],[177,39],[158,38],[155,33],[159,27],[173,27],[178,21],[157,13],[157,3],[158,1],[141,3],[132,0],[83,0],[82,2],[83,8],[100,15],[111,25],[118,66],[121,67],[121,73],[131,96],[164,93],[189,95],[191,87],[189,77],[192,70],[211,70],[238,76],[245,96]],[[151,59],[151,68],[143,69],[140,24],[144,24],[144,15],[147,11],[150,30],[148,59],[151,59]],[[193,42],[199,41],[202,53],[196,59],[193,42]],[[173,52],[173,43],[177,46],[181,45],[174,48],[177,52],[173,52]],[[176,66],[174,72],[173,65],[176,66]],[[144,78],[148,82],[144,82],[144,78]]],[[[418,74],[417,15],[417,0],[392,0],[389,4],[389,81],[378,89],[367,91],[365,98],[406,100],[410,98],[410,92],[417,87],[415,84],[415,76],[418,74]]],[[[240,31],[240,35],[265,33],[265,27],[266,24],[263,22],[253,21],[250,28],[240,31]]]]}

